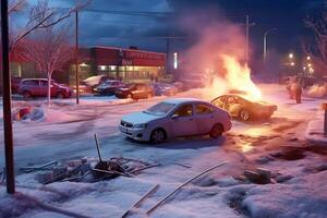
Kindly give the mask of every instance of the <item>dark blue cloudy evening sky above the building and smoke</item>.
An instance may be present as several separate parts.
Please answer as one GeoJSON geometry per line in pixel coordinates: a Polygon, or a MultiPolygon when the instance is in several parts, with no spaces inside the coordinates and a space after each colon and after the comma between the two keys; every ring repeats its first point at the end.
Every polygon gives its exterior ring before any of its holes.
{"type": "MultiPolygon", "coordinates": [[[[50,3],[68,8],[74,0],[50,0],[50,3]]],[[[255,23],[251,27],[251,41],[256,51],[262,50],[264,33],[278,28],[268,36],[268,46],[288,52],[299,49],[301,38],[311,33],[304,27],[305,16],[317,14],[323,5],[324,0],[93,0],[81,13],[80,39],[87,46],[137,46],[166,51],[165,37],[193,37],[183,33],[178,22],[181,17],[194,11],[203,14],[210,11],[241,26],[249,14],[255,23]]],[[[173,40],[171,49],[179,49],[186,41],[173,40]]]]}

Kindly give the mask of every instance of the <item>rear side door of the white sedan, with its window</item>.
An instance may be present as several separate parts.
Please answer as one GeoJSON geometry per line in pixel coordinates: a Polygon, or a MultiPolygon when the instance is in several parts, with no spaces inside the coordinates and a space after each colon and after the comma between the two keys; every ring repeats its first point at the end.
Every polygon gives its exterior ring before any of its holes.
{"type": "Polygon", "coordinates": [[[199,134],[207,134],[215,124],[214,109],[206,104],[195,104],[194,119],[199,134]]]}

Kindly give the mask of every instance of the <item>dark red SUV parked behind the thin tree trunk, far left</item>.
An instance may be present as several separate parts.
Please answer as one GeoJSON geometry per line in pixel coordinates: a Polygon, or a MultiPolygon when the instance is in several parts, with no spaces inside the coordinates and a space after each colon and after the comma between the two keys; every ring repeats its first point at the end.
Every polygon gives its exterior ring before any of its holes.
{"type": "MultiPolygon", "coordinates": [[[[19,93],[25,98],[29,97],[46,97],[48,94],[47,78],[24,78],[22,80],[19,93]]],[[[72,89],[51,81],[51,96],[58,98],[69,98],[72,95],[72,89]]]]}

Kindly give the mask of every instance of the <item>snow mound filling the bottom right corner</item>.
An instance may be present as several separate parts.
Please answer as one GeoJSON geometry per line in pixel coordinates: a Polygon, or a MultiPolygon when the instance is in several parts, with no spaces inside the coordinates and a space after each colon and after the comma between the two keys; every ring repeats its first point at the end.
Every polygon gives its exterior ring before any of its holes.
{"type": "Polygon", "coordinates": [[[288,184],[256,185],[245,193],[242,207],[253,218],[327,215],[327,171],[294,178],[288,184]]]}

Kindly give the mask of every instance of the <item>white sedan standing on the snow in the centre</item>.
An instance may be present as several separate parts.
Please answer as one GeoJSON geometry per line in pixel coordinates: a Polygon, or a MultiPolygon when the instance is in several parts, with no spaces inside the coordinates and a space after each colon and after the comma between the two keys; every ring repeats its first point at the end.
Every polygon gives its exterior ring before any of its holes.
{"type": "Polygon", "coordinates": [[[171,98],[145,111],[122,117],[120,132],[136,141],[162,143],[167,138],[206,135],[217,138],[231,129],[229,113],[193,98],[171,98]]]}

